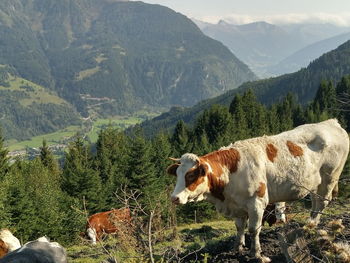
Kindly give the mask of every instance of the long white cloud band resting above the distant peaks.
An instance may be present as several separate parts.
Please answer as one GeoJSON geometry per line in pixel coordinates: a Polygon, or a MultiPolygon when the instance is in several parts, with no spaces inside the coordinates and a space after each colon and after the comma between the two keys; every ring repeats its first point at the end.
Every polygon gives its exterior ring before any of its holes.
{"type": "Polygon", "coordinates": [[[330,23],[338,26],[350,26],[350,12],[344,13],[314,13],[314,14],[282,14],[282,15],[242,15],[230,14],[226,16],[203,16],[197,19],[208,23],[217,23],[225,20],[232,24],[248,24],[257,21],[266,21],[271,24],[301,24],[301,23],[330,23]]]}

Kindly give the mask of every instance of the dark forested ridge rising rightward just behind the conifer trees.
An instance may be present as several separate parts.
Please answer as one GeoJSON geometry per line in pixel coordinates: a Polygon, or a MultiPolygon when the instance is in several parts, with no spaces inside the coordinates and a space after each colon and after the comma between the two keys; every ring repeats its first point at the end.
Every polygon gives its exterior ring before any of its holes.
{"type": "Polygon", "coordinates": [[[141,127],[146,134],[156,130],[174,128],[179,120],[193,122],[196,116],[214,104],[229,105],[238,93],[251,89],[258,100],[264,104],[280,101],[286,94],[292,93],[302,104],[311,101],[322,80],[339,81],[344,75],[350,74],[350,41],[330,51],[298,72],[282,75],[276,78],[247,82],[238,89],[228,91],[218,97],[208,99],[190,108],[173,108],[152,120],[145,121],[141,127]]]}

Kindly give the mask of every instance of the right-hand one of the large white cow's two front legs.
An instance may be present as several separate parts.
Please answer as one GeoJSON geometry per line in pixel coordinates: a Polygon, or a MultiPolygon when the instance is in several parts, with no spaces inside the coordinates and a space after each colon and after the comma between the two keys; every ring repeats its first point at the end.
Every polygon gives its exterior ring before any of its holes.
{"type": "Polygon", "coordinates": [[[250,204],[248,209],[248,231],[252,239],[250,256],[257,258],[262,262],[271,262],[270,258],[261,255],[261,246],[259,240],[264,208],[265,206],[263,205],[263,202],[260,200],[255,200],[250,204]]]}

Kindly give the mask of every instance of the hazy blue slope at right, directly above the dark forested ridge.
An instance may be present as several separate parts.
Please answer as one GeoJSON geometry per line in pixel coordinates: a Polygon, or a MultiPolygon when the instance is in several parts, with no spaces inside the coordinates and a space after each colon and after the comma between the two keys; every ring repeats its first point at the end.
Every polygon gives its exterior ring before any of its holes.
{"type": "Polygon", "coordinates": [[[306,67],[311,61],[315,60],[322,54],[337,48],[340,44],[345,43],[349,39],[350,32],[311,44],[283,59],[277,65],[271,67],[269,72],[275,75],[295,72],[306,67]]]}

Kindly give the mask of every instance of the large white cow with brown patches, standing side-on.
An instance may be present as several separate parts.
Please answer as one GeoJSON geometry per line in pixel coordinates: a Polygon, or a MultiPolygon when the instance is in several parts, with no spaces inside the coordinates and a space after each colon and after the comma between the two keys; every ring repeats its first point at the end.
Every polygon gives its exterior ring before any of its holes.
{"type": "Polygon", "coordinates": [[[237,141],[204,156],[192,153],[168,167],[177,176],[174,204],[207,199],[235,218],[235,249],[242,252],[244,229],[252,236],[251,256],[264,262],[259,233],[269,203],[298,200],[310,193],[310,225],[332,199],[349,153],[349,137],[335,119],[301,125],[275,136],[237,141]]]}

